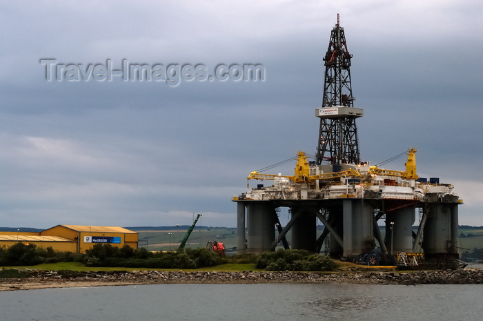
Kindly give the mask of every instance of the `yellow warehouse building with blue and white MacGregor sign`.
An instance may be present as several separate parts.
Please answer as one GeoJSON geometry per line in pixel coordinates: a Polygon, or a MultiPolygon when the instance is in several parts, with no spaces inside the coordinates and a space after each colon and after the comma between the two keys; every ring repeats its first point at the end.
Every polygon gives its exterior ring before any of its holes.
{"type": "Polygon", "coordinates": [[[41,232],[0,232],[0,246],[22,242],[57,252],[86,253],[98,243],[137,249],[137,236],[118,226],[57,225],[41,232]]]}

